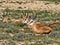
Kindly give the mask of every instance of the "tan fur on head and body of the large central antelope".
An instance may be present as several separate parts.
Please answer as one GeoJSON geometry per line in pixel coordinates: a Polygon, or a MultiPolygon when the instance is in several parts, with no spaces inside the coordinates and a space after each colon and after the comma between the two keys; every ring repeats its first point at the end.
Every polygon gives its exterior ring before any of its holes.
{"type": "MultiPolygon", "coordinates": [[[[27,23],[30,22],[30,20],[26,19],[27,23]]],[[[28,25],[28,28],[35,33],[50,33],[52,29],[48,26],[45,26],[42,22],[34,22],[33,25],[28,25]]]]}

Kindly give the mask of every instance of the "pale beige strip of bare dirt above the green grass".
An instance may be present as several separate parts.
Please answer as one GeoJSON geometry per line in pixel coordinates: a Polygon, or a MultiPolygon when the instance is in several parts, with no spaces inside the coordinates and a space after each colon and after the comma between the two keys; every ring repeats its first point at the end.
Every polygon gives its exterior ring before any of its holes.
{"type": "Polygon", "coordinates": [[[60,2],[36,0],[0,0],[0,9],[60,11],[60,2]]]}

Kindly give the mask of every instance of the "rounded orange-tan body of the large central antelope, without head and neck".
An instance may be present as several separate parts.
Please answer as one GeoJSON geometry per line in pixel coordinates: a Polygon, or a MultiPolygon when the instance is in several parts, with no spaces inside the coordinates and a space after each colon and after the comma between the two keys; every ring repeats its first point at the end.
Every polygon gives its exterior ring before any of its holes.
{"type": "Polygon", "coordinates": [[[31,27],[36,33],[50,33],[52,30],[50,27],[45,26],[42,23],[34,23],[31,27]]]}

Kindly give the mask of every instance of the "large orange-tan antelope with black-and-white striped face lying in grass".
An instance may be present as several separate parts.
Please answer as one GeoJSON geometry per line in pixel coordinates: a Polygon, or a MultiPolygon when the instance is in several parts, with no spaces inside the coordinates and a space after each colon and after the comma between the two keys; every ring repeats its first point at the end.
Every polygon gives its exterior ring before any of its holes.
{"type": "Polygon", "coordinates": [[[36,19],[29,19],[28,15],[23,16],[23,23],[28,25],[28,28],[30,28],[32,31],[36,33],[50,33],[52,31],[52,28],[45,26],[44,23],[37,22],[36,19]]]}

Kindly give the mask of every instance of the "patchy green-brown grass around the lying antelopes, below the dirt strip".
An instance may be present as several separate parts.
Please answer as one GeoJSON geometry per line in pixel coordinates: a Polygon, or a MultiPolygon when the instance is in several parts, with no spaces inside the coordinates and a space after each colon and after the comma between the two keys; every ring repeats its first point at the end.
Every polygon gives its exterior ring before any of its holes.
{"type": "MultiPolygon", "coordinates": [[[[10,19],[20,19],[23,13],[34,17],[37,15],[39,22],[45,25],[52,25],[53,22],[60,22],[60,13],[40,10],[9,10],[5,9],[0,20],[0,45],[59,45],[60,44],[60,25],[52,29],[49,34],[37,34],[30,29],[24,29],[26,25],[22,23],[12,23],[10,19]],[[5,14],[6,12],[6,14],[5,14]],[[33,15],[35,14],[35,15],[33,15]],[[4,17],[9,17],[8,23],[3,22],[4,17]],[[48,18],[47,18],[48,17],[48,18]],[[5,41],[4,41],[5,40],[5,41]]],[[[14,21],[13,21],[14,22],[14,21]]]]}

